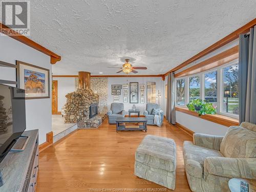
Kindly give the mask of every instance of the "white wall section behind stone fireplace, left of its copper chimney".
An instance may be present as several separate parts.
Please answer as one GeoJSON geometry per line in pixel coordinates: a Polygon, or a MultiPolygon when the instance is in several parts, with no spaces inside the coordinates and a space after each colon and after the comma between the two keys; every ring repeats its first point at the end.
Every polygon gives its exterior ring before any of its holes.
{"type": "Polygon", "coordinates": [[[58,81],[58,112],[67,101],[65,97],[68,93],[75,91],[75,77],[53,77],[58,81]]]}

